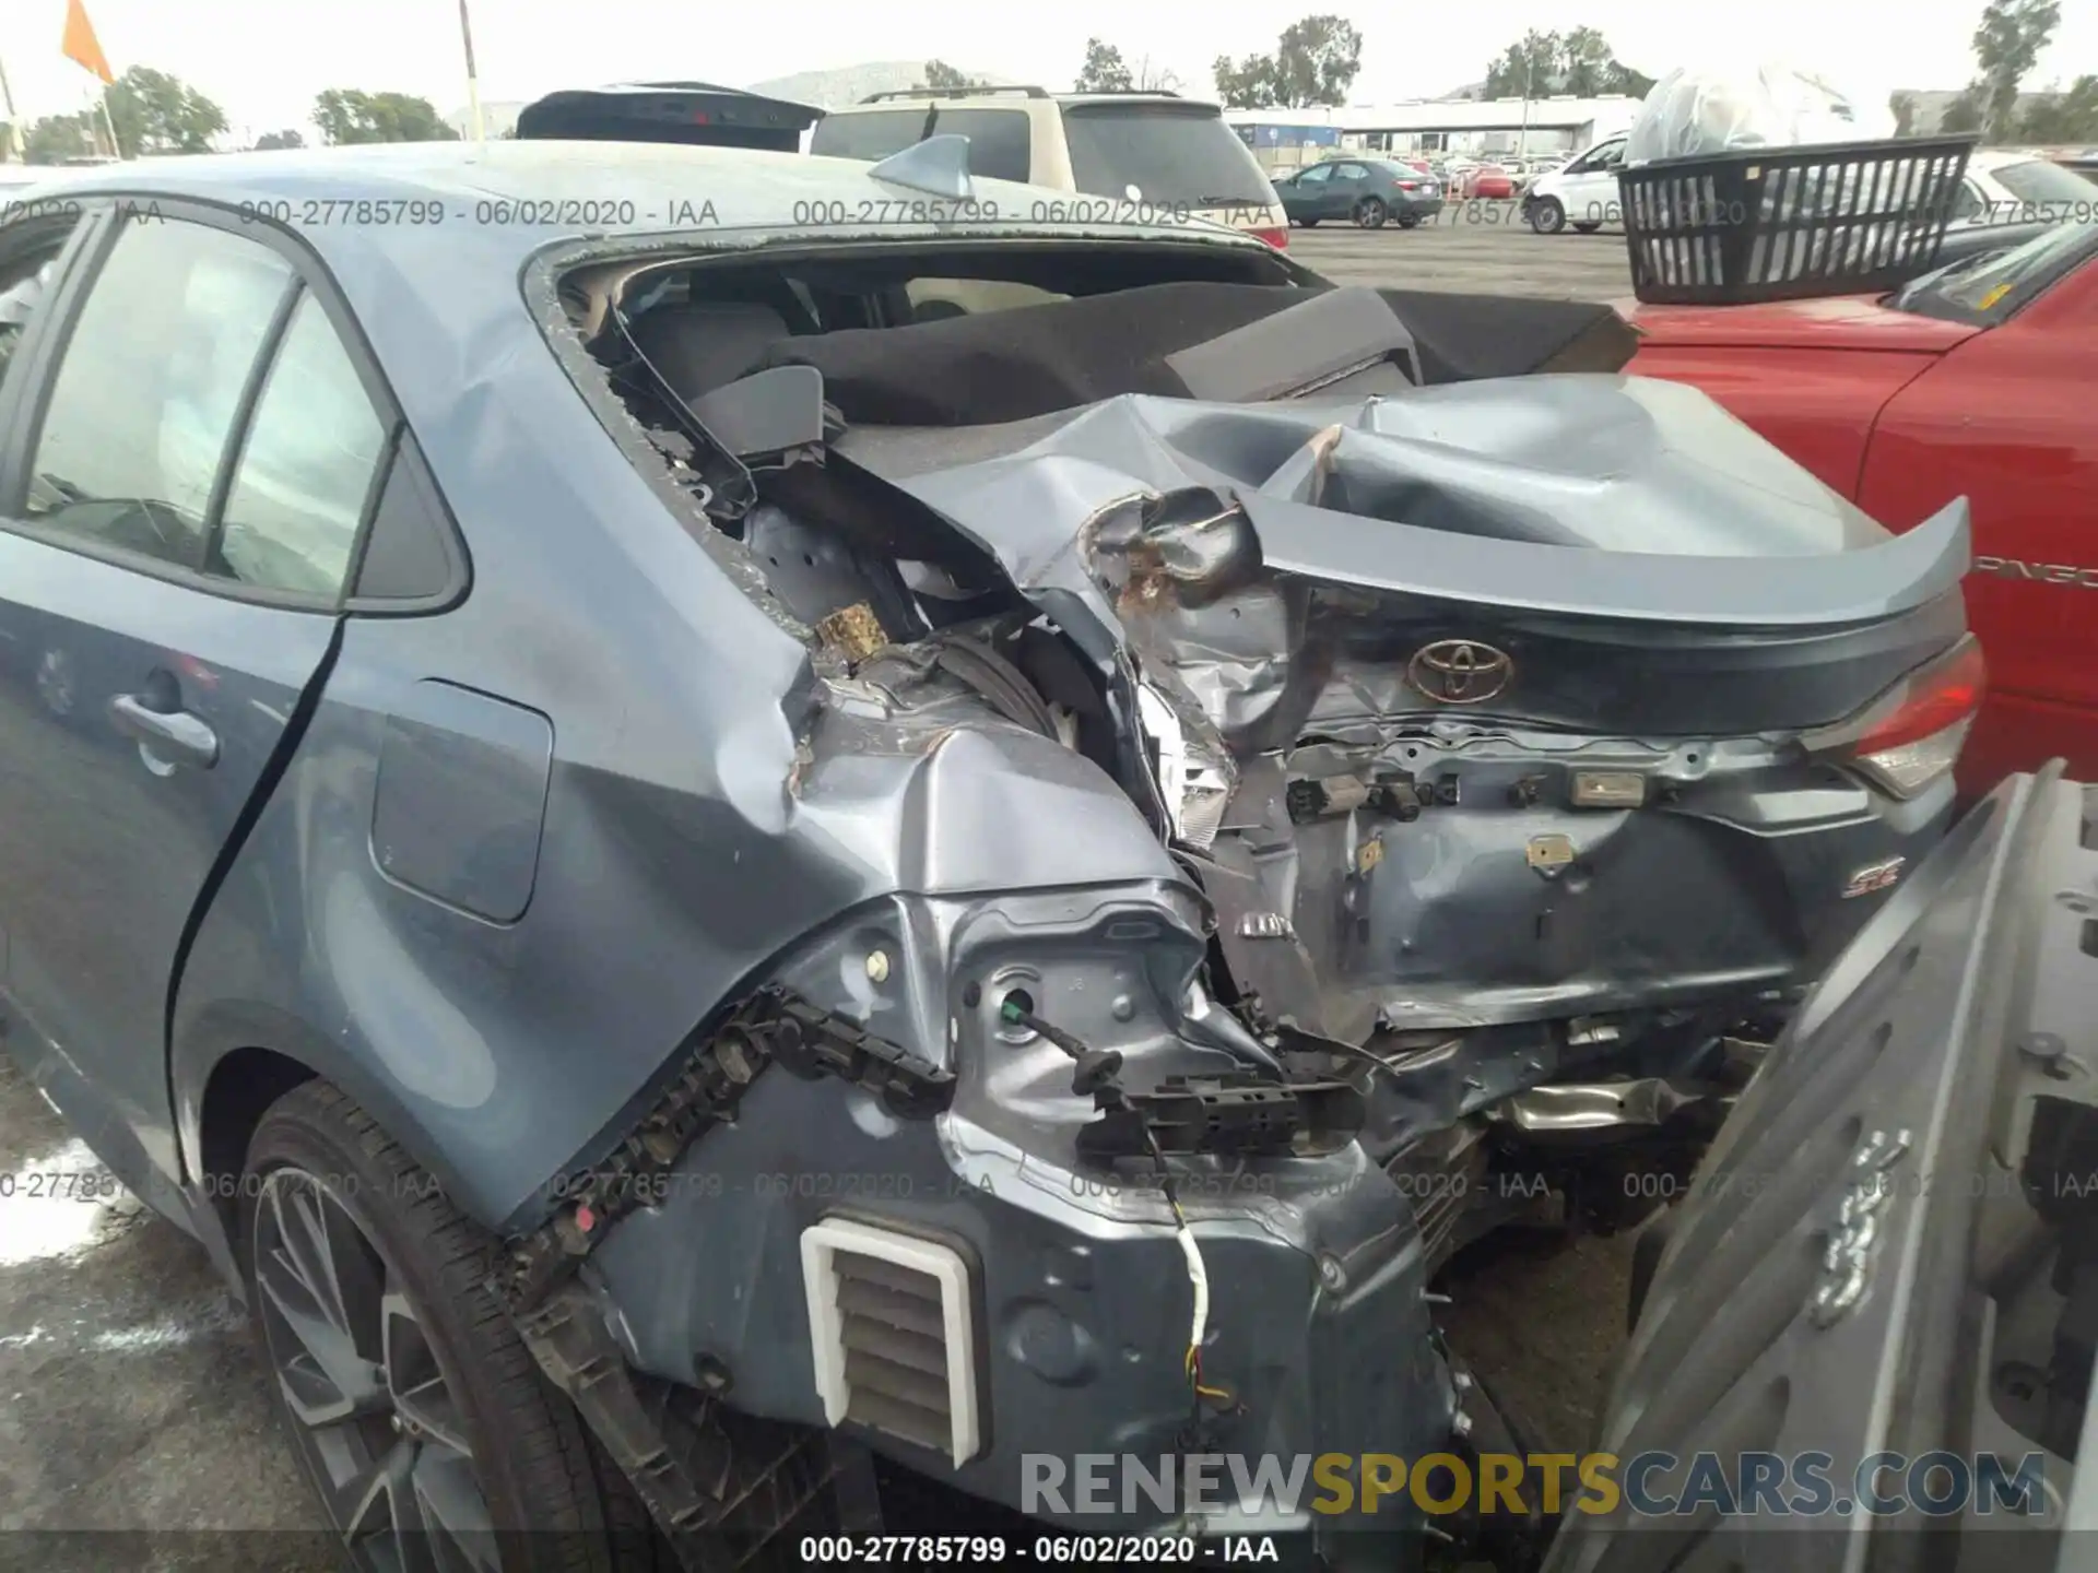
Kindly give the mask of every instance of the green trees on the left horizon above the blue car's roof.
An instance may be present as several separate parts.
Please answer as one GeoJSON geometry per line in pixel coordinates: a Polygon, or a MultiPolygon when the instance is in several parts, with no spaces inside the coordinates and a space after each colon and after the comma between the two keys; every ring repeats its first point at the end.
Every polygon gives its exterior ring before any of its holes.
{"type": "MultiPolygon", "coordinates": [[[[313,101],[313,134],[327,147],[346,143],[455,143],[428,99],[407,92],[359,92],[329,88],[313,101]]],[[[0,134],[6,128],[0,124],[0,134]]],[[[23,157],[29,164],[63,164],[107,151],[117,141],[117,157],[155,153],[210,153],[212,138],[224,136],[227,111],[206,94],[166,71],[134,65],[107,88],[101,105],[71,115],[44,115],[23,128],[23,157]],[[107,111],[107,122],[103,117],[107,111]],[[107,130],[105,130],[107,126],[107,130]]],[[[306,147],[306,132],[287,126],[266,132],[258,149],[306,147]]]]}

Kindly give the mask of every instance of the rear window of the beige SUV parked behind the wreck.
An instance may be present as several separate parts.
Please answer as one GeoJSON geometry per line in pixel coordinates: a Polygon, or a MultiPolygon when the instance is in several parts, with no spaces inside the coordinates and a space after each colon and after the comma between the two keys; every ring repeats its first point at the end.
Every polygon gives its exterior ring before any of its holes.
{"type": "Polygon", "coordinates": [[[1194,208],[1267,208],[1273,189],[1238,132],[1215,109],[1146,105],[1066,105],[1070,174],[1093,197],[1190,203],[1194,208]]]}

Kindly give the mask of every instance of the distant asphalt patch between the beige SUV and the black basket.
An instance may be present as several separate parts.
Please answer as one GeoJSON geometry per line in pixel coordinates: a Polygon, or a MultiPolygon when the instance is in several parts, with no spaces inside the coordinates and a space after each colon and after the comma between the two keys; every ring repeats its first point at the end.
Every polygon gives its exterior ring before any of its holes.
{"type": "Polygon", "coordinates": [[[1548,300],[1628,300],[1624,233],[1538,235],[1513,201],[1443,210],[1418,229],[1322,222],[1290,231],[1290,256],[1334,283],[1380,289],[1458,289],[1548,300]]]}

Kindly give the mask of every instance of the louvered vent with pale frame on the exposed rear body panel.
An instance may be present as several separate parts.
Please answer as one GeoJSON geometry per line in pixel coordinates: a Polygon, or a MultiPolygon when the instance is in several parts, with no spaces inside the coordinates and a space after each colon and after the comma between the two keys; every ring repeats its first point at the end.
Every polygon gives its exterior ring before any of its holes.
{"type": "Polygon", "coordinates": [[[978,1451],[969,1267],[950,1246],[827,1219],[801,1235],[825,1418],[946,1453],[978,1451]]]}

